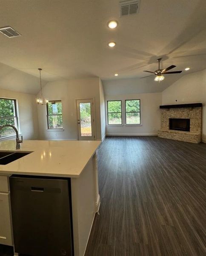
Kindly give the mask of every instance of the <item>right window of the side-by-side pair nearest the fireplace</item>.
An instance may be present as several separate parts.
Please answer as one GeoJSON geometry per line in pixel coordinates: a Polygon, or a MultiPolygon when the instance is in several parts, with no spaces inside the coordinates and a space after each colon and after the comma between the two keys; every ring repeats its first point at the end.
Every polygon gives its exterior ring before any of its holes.
{"type": "Polygon", "coordinates": [[[140,125],[140,99],[125,101],[126,125],[140,125]]]}

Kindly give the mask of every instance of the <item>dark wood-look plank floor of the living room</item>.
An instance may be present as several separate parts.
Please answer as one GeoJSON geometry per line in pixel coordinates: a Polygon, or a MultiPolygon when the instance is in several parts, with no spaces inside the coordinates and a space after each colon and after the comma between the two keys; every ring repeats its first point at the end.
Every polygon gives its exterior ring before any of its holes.
{"type": "Polygon", "coordinates": [[[206,144],[107,137],[85,256],[206,255],[206,144]]]}

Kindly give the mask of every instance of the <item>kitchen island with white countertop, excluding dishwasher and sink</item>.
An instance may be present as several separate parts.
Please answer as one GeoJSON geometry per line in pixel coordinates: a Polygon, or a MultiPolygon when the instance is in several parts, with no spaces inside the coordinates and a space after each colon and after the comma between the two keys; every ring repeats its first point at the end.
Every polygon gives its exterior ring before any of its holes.
{"type": "Polygon", "coordinates": [[[9,176],[64,177],[71,178],[74,255],[84,255],[94,215],[100,206],[96,159],[96,151],[100,143],[100,141],[25,140],[21,148],[16,150],[15,141],[0,142],[0,151],[30,153],[11,163],[0,165],[0,194],[8,196],[8,202],[4,201],[2,205],[0,200],[0,208],[6,207],[4,214],[8,215],[7,218],[4,216],[4,219],[3,215],[0,215],[2,218],[0,227],[3,227],[0,230],[0,244],[13,245],[12,227],[9,227],[9,224],[12,226],[11,221],[9,222],[11,213],[8,211],[10,209],[9,176]]]}

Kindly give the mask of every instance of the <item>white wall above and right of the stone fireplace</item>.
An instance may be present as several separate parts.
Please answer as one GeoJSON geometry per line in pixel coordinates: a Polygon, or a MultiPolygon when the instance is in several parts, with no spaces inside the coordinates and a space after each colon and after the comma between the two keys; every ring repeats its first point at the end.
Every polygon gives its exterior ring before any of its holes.
{"type": "Polygon", "coordinates": [[[206,142],[206,70],[190,73],[162,93],[162,104],[203,103],[202,141],[206,142]]]}

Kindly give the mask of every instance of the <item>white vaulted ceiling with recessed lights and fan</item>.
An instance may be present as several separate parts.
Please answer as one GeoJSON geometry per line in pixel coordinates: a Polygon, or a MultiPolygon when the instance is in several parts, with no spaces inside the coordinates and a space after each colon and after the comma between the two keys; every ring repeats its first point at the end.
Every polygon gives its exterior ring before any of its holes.
{"type": "MultiPolygon", "coordinates": [[[[45,81],[97,76],[107,93],[117,90],[118,84],[125,88],[130,84],[131,93],[133,87],[135,92],[162,91],[186,73],[166,75],[161,84],[153,77],[139,79],[149,75],[143,70],[157,69],[158,57],[163,58],[164,68],[177,66],[171,71],[206,68],[206,0],[141,0],[137,15],[121,18],[118,3],[0,0],[0,27],[12,26],[22,35],[7,38],[0,34],[0,62],[7,65],[5,72],[10,74],[14,68],[34,80],[41,67],[45,81]],[[115,31],[106,26],[111,19],[118,20],[115,31]],[[117,43],[114,49],[107,47],[109,41],[117,43]],[[116,72],[119,76],[114,78],[116,72]]],[[[37,93],[39,84],[31,84],[26,81],[20,90],[30,87],[30,93],[37,93]]]]}

